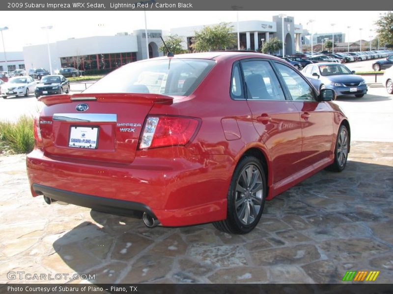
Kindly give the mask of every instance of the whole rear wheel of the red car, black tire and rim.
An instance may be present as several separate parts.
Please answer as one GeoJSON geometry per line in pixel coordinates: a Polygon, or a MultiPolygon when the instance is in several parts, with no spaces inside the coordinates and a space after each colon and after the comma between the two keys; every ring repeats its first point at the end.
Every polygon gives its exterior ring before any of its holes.
{"type": "Polygon", "coordinates": [[[239,161],[227,197],[226,220],[213,222],[214,227],[231,234],[251,232],[261,218],[266,198],[265,172],[257,158],[245,156],[239,161]]]}

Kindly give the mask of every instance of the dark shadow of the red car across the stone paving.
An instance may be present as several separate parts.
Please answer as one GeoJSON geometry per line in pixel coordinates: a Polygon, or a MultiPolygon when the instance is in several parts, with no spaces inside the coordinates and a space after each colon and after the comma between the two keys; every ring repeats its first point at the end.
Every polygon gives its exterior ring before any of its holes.
{"type": "Polygon", "coordinates": [[[267,201],[246,235],[211,224],[149,229],[140,215],[91,211],[53,247],[75,272],[94,274],[95,284],[282,283],[283,276],[341,283],[346,270],[381,270],[379,283],[389,282],[392,182],[392,166],[348,161],[341,173],[318,172],[267,201]]]}

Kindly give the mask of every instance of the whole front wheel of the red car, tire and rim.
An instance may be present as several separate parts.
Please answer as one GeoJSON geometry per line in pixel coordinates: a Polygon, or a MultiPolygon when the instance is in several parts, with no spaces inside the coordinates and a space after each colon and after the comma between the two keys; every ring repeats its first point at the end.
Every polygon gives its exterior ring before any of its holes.
{"type": "Polygon", "coordinates": [[[342,172],[345,169],[348,159],[349,140],[348,130],[346,126],[342,124],[337,133],[335,161],[328,166],[326,170],[331,172],[342,172]]]}

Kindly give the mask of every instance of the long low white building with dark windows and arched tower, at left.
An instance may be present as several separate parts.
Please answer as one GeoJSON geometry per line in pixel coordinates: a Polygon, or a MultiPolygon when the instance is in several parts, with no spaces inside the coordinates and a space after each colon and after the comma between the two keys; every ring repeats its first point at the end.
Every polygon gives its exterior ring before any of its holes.
{"type": "MultiPolygon", "coordinates": [[[[136,30],[132,34],[115,36],[94,36],[67,39],[49,44],[50,62],[55,73],[64,67],[74,67],[83,71],[112,71],[122,65],[149,57],[162,56],[161,30],[136,30]]],[[[50,70],[48,44],[23,48],[26,69],[44,68],[50,70]]]]}

